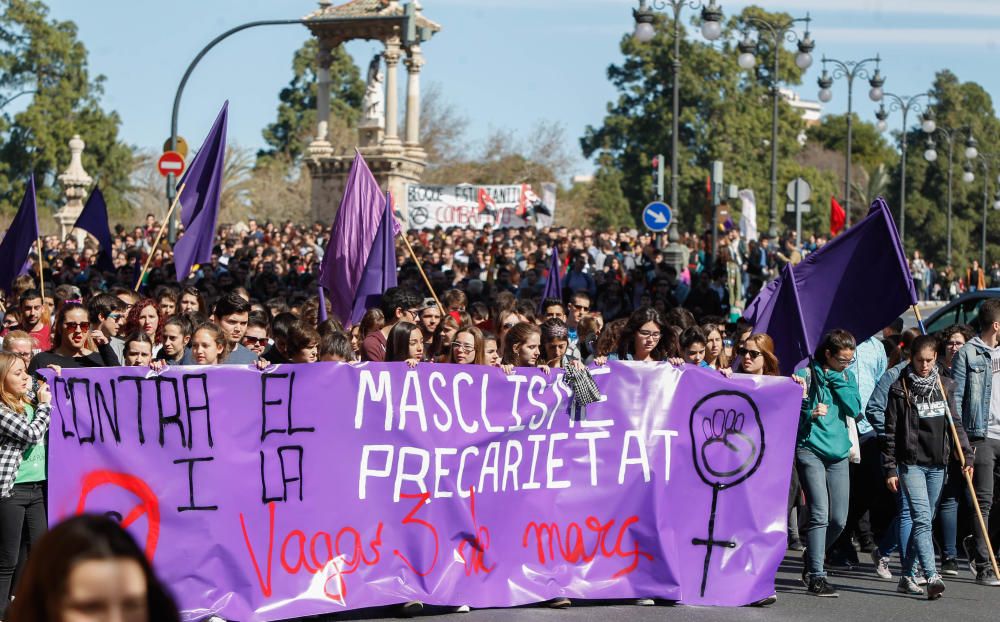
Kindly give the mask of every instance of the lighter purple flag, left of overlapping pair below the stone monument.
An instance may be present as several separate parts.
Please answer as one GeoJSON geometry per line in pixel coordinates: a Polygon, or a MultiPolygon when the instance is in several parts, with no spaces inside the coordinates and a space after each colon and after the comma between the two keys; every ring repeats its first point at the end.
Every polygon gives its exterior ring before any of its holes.
{"type": "Polygon", "coordinates": [[[361,153],[356,153],[319,276],[320,284],[330,292],[333,314],[347,326],[385,208],[385,194],[361,153]]]}

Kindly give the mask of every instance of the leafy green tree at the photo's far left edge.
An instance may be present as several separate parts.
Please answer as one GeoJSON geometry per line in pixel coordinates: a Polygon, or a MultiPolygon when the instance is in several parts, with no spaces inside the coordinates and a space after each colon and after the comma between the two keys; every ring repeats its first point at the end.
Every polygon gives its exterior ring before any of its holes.
{"type": "Polygon", "coordinates": [[[28,175],[38,200],[62,201],[56,176],[69,164],[69,140],[87,143],[83,165],[101,184],[112,214],[129,212],[133,149],[118,139],[121,119],[100,105],[104,77],[92,78],[76,25],[49,18],[39,0],[8,0],[0,13],[0,101],[25,93],[29,105],[0,115],[0,211],[17,208],[28,175]]]}

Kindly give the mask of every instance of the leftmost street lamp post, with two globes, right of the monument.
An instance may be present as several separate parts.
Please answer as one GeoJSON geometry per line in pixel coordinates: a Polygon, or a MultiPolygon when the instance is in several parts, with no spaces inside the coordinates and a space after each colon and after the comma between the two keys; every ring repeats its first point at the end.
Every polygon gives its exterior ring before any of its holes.
{"type": "MultiPolygon", "coordinates": [[[[692,10],[701,7],[700,0],[639,0],[639,8],[632,9],[632,16],[635,18],[635,32],[633,37],[640,43],[646,43],[653,39],[656,30],[653,28],[653,10],[664,11],[669,6],[673,12],[674,24],[674,54],[671,59],[671,70],[673,76],[673,113],[671,115],[670,128],[670,207],[674,210],[674,217],[670,222],[670,231],[667,239],[670,242],[678,240],[677,235],[677,182],[679,177],[679,166],[677,162],[677,135],[680,121],[680,71],[681,71],[681,10],[684,6],[691,7],[692,10]]],[[[722,35],[722,10],[715,3],[709,0],[708,6],[701,10],[701,34],[708,41],[715,41],[722,35]]]]}

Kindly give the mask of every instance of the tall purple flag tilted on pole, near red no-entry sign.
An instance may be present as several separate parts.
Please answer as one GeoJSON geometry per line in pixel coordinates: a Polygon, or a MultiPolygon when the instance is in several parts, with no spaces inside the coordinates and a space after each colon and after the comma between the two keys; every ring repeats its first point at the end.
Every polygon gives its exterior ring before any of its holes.
{"type": "Polygon", "coordinates": [[[195,264],[212,259],[212,242],[215,239],[215,223],[219,217],[219,198],[222,195],[222,171],[226,160],[228,117],[227,101],[222,105],[205,142],[180,181],[180,185],[184,186],[180,195],[184,235],[174,245],[174,267],[178,282],[187,279],[195,264]]]}

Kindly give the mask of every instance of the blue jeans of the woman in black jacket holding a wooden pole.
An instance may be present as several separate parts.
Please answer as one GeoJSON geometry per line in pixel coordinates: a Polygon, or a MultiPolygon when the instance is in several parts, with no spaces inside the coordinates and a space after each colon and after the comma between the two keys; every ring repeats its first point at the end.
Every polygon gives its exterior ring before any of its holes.
{"type": "Polygon", "coordinates": [[[944,486],[944,466],[919,466],[900,464],[899,502],[900,513],[909,509],[913,531],[909,542],[900,538],[903,554],[903,576],[914,576],[917,562],[928,579],[937,574],[934,561],[934,538],[931,525],[937,511],[941,488],[944,486]]]}

